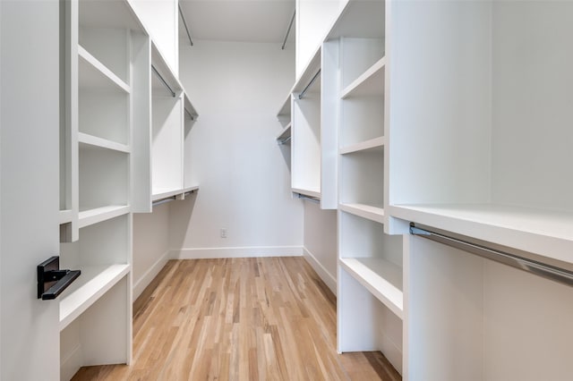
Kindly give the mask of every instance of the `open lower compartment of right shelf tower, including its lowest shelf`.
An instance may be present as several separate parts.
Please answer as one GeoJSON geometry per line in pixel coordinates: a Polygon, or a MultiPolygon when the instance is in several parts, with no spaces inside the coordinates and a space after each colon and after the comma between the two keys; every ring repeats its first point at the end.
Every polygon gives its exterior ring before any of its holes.
{"type": "Polygon", "coordinates": [[[402,369],[402,237],[338,211],[338,351],[382,351],[402,369]]]}

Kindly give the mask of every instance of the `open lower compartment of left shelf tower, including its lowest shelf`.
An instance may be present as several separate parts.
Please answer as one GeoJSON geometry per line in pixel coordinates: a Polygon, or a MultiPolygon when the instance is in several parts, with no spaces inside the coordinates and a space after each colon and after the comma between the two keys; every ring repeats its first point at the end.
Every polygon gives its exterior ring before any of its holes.
{"type": "Polygon", "coordinates": [[[131,358],[131,230],[132,216],[124,214],[61,244],[61,266],[81,270],[59,298],[63,379],[81,366],[131,358]]]}

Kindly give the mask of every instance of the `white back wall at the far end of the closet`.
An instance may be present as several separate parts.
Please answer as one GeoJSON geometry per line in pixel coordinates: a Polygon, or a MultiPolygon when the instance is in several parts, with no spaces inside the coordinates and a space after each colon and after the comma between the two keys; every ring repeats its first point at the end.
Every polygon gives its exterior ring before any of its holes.
{"type": "Polygon", "coordinates": [[[302,255],[303,205],[291,195],[289,158],[275,141],[294,54],[280,44],[181,47],[180,79],[200,114],[189,133],[192,183],[201,188],[169,204],[171,247],[181,249],[175,257],[302,255]]]}

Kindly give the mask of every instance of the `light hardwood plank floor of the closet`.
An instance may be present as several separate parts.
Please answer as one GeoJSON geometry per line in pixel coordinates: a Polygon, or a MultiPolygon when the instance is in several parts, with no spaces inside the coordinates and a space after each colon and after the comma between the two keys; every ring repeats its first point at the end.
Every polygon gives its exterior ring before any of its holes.
{"type": "Polygon", "coordinates": [[[73,380],[401,380],[336,352],[336,297],[304,258],[172,260],[133,306],[130,366],[73,380]]]}

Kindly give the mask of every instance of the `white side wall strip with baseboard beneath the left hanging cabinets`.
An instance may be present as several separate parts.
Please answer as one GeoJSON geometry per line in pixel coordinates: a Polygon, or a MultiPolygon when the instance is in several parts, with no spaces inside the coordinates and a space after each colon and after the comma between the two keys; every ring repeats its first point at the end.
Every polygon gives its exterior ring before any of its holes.
{"type": "MultiPolygon", "coordinates": [[[[173,201],[180,202],[180,201],[173,201]]],[[[169,206],[133,214],[133,301],[169,259],[169,206]]]]}

